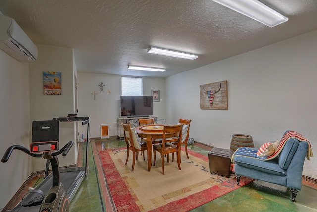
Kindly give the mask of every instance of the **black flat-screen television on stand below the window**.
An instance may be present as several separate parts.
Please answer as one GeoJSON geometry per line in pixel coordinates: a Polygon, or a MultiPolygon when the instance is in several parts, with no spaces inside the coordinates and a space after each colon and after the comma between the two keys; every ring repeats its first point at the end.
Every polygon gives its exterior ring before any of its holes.
{"type": "Polygon", "coordinates": [[[153,115],[152,96],[120,96],[121,116],[153,115]]]}

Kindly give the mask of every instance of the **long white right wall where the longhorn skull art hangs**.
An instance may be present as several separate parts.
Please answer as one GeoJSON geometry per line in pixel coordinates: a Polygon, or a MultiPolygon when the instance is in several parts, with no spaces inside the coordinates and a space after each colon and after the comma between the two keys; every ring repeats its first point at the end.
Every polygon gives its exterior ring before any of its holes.
{"type": "MultiPolygon", "coordinates": [[[[313,31],[168,77],[168,123],[192,119],[190,136],[220,148],[230,147],[233,134],[251,135],[259,148],[294,130],[317,155],[316,56],[313,31]],[[201,110],[199,85],[223,80],[228,81],[228,110],[201,110]]],[[[303,174],[316,179],[316,166],[316,158],[306,160],[303,174]]]]}

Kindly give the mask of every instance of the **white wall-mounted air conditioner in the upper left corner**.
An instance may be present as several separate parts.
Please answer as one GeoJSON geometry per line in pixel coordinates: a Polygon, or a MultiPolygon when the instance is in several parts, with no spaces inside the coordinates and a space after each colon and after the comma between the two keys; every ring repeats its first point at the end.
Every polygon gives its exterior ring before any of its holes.
{"type": "Polygon", "coordinates": [[[20,62],[35,61],[38,48],[13,18],[0,14],[0,49],[20,62]]]}

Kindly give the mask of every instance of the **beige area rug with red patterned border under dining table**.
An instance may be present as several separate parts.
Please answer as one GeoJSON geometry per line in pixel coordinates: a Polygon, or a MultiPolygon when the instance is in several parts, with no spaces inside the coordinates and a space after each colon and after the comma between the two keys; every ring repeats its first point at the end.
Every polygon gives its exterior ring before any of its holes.
{"type": "MultiPolygon", "coordinates": [[[[159,153],[156,164],[147,171],[147,157],[139,155],[131,172],[132,155],[125,165],[126,148],[99,151],[104,174],[118,212],[187,212],[253,181],[226,178],[209,172],[208,157],[182,151],[181,170],[177,162],[164,162],[159,153]]],[[[153,160],[153,158],[152,158],[153,160]]]]}

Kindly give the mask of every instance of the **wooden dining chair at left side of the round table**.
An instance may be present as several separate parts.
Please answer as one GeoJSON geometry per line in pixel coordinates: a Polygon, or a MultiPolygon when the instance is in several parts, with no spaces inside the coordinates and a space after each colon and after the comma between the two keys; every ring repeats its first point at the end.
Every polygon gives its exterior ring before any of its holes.
{"type": "Polygon", "coordinates": [[[125,161],[125,165],[128,163],[130,151],[132,151],[133,159],[132,159],[132,169],[134,170],[135,160],[139,157],[139,152],[143,153],[143,160],[145,160],[144,151],[147,150],[146,142],[139,142],[137,136],[135,134],[135,129],[130,127],[130,124],[123,124],[124,130],[124,141],[127,145],[127,159],[125,161]]]}

